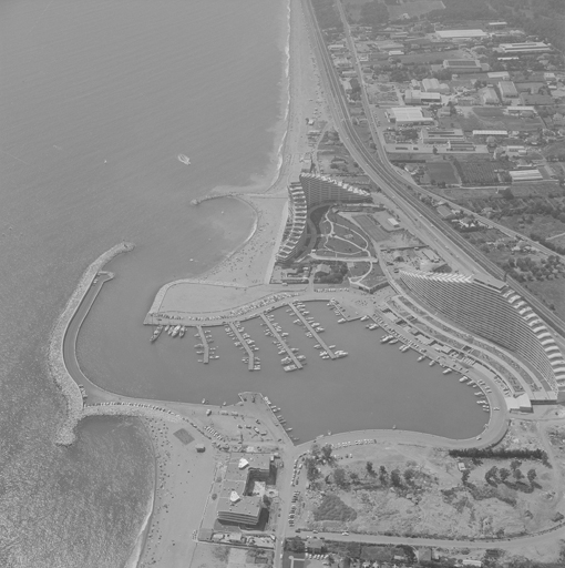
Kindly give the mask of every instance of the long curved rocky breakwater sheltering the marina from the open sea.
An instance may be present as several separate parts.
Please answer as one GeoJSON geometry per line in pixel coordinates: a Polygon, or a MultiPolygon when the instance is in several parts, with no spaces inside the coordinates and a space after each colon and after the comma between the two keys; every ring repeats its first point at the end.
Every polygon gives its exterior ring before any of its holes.
{"type": "Polygon", "coordinates": [[[63,313],[60,315],[53,331],[51,332],[49,345],[49,369],[53,381],[56,383],[59,388],[61,388],[66,399],[66,418],[56,433],[55,444],[69,446],[74,443],[76,437],[74,428],[82,418],[83,412],[82,393],[64,364],[63,342],[69,324],[84,300],[84,296],[99,271],[119,254],[133,251],[134,246],[135,245],[132,243],[120,243],[99,256],[84,271],[76,290],[66,303],[63,313]]]}

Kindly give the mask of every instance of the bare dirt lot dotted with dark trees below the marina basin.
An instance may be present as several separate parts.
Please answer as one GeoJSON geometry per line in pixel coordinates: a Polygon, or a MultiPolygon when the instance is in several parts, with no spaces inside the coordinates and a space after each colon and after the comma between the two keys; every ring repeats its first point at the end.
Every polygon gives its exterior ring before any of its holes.
{"type": "MultiPolygon", "coordinates": [[[[504,447],[533,449],[544,443],[534,423],[516,420],[504,447]]],[[[536,532],[563,518],[561,477],[549,462],[456,458],[442,449],[386,443],[338,449],[336,457],[321,466],[316,490],[307,491],[297,526],[503,538],[536,532]]]]}

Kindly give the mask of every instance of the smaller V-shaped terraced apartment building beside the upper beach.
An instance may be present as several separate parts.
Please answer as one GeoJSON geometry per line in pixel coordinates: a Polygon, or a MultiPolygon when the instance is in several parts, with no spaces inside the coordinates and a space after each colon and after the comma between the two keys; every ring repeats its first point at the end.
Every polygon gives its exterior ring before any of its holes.
{"type": "Polygon", "coordinates": [[[288,187],[288,217],[277,260],[292,260],[301,251],[307,235],[308,215],[318,205],[328,203],[363,203],[371,201],[368,191],[333,180],[327,175],[301,173],[288,187]]]}

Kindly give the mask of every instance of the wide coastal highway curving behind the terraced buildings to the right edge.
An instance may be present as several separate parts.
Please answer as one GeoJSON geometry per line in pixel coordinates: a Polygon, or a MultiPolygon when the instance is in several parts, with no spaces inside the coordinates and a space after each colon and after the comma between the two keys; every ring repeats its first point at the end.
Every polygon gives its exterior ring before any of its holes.
{"type": "MultiPolygon", "coordinates": [[[[341,84],[337,78],[333,63],[326,48],[323,34],[318,26],[315,17],[314,8],[310,0],[304,0],[306,20],[312,31],[312,48],[316,59],[319,63],[320,77],[323,80],[326,92],[328,94],[327,102],[335,120],[336,129],[340,134],[341,142],[351,153],[353,159],[361,165],[367,175],[378,184],[382,191],[389,195],[401,209],[413,220],[421,217],[429,224],[425,229],[428,233],[432,230],[432,239],[438,245],[455,253],[459,264],[473,266],[476,272],[482,272],[494,276],[497,280],[505,280],[502,268],[496,266],[492,261],[484,256],[477,248],[471,245],[465,239],[458,233],[452,226],[439,219],[424,203],[422,203],[417,194],[422,190],[413,183],[400,178],[394,168],[388,162],[383,148],[379,138],[374,135],[374,125],[372,124],[372,114],[367,100],[367,94],[362,89],[363,109],[371,126],[373,140],[377,145],[377,154],[373,155],[363,144],[357,131],[352,126],[349,115],[349,108],[345,99],[341,84]],[[401,202],[401,203],[400,203],[401,202]],[[439,236],[441,235],[441,237],[439,236]]],[[[360,79],[361,81],[361,79],[360,79]]],[[[421,224],[422,229],[423,225],[421,224]]],[[[538,313],[541,317],[552,325],[556,331],[565,336],[565,323],[562,322],[551,310],[548,310],[537,297],[531,294],[522,285],[512,278],[506,278],[512,287],[522,295],[538,313]]]]}

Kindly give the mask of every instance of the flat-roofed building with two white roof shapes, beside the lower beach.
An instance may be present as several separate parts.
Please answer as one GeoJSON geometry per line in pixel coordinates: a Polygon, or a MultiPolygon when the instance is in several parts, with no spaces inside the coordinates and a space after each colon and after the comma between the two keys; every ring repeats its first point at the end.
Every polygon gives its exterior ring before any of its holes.
{"type": "Polygon", "coordinates": [[[218,497],[218,520],[257,525],[263,505],[254,481],[268,479],[271,463],[268,454],[232,454],[218,497]]]}

